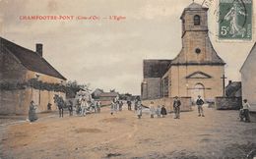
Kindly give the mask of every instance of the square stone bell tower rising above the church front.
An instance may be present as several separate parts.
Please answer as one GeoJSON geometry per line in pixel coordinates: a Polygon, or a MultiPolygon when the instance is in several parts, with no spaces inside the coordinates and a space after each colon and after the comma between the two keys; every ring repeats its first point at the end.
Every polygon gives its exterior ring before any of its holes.
{"type": "Polygon", "coordinates": [[[209,52],[208,8],[192,3],[184,9],[180,19],[182,22],[182,48],[186,62],[212,61],[209,52]]]}

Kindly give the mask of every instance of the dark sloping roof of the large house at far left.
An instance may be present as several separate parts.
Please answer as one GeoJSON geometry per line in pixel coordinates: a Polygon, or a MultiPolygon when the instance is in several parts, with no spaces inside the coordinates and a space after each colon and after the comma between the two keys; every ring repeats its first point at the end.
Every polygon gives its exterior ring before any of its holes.
{"type": "Polygon", "coordinates": [[[43,57],[36,52],[0,37],[0,51],[13,54],[28,70],[58,79],[64,78],[43,57]]]}

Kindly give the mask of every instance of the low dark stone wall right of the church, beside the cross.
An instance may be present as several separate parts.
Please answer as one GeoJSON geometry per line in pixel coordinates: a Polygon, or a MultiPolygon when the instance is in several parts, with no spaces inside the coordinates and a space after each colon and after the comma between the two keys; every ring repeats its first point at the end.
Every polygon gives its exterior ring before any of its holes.
{"type": "Polygon", "coordinates": [[[238,110],[242,106],[241,97],[216,97],[215,105],[217,110],[238,110]]]}

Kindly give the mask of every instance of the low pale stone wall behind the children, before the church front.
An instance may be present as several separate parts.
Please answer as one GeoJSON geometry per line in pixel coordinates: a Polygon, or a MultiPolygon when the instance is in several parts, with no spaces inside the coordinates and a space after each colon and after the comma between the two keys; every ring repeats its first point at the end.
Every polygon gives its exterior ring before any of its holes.
{"type": "MultiPolygon", "coordinates": [[[[168,112],[173,112],[173,100],[174,98],[160,98],[160,99],[152,99],[152,100],[143,100],[142,104],[145,106],[150,106],[150,103],[153,101],[154,106],[157,108],[158,105],[164,105],[168,112]]],[[[181,111],[191,111],[192,101],[191,97],[180,97],[181,102],[181,111]]]]}

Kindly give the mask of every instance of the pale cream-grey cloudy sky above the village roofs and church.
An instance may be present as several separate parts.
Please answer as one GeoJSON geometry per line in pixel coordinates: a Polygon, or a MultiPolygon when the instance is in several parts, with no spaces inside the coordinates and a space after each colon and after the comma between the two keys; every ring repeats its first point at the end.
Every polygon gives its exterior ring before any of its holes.
{"type": "MultiPolygon", "coordinates": [[[[212,2],[209,36],[226,63],[226,80],[240,80],[239,69],[255,42],[255,33],[252,41],[219,40],[215,14],[218,1],[206,1],[212,2]]],[[[195,2],[202,4],[203,0],[195,2]]],[[[32,50],[35,43],[42,43],[43,57],[69,80],[90,83],[92,89],[115,88],[121,93],[140,94],[143,59],[173,59],[179,53],[179,18],[191,3],[192,0],[0,0],[0,35],[32,50]],[[21,20],[21,16],[49,15],[96,16],[100,20],[21,20]],[[110,20],[109,16],[123,19],[110,20]]]]}

